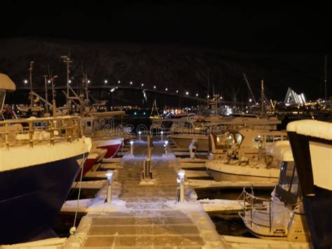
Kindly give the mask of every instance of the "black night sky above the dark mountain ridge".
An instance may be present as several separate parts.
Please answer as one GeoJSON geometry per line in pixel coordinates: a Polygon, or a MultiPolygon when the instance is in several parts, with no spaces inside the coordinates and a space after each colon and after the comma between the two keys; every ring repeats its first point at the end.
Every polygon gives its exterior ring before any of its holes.
{"type": "Polygon", "coordinates": [[[0,37],[213,45],[250,52],[330,52],[328,6],[177,1],[1,2],[0,37]]]}

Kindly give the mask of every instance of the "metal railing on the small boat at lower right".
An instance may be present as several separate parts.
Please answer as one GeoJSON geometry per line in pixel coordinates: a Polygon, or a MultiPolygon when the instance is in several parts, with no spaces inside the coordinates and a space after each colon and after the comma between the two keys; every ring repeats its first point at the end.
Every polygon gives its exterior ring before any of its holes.
{"type": "Polygon", "coordinates": [[[254,222],[254,223],[256,223],[256,225],[259,225],[261,227],[268,227],[271,232],[271,229],[272,229],[271,201],[272,201],[272,199],[254,196],[254,190],[252,187],[251,187],[251,192],[247,192],[246,187],[244,187],[242,195],[243,195],[244,220],[249,220],[251,227],[254,222]],[[250,213],[250,216],[249,216],[249,213],[250,213]],[[268,214],[268,217],[269,217],[268,225],[266,225],[265,222],[257,224],[256,221],[253,221],[255,213],[268,214]]]}

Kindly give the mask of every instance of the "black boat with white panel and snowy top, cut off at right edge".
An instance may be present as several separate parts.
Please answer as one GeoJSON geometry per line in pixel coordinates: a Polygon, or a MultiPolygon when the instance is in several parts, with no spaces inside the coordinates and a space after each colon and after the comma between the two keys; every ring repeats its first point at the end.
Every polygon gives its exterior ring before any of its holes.
{"type": "Polygon", "coordinates": [[[302,202],[314,248],[332,247],[332,124],[300,120],[287,125],[302,202]]]}

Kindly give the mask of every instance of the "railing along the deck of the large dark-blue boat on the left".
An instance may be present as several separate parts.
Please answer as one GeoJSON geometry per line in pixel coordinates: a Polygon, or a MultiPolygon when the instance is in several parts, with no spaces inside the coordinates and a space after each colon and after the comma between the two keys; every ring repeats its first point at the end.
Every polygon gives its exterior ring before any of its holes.
{"type": "Polygon", "coordinates": [[[58,141],[71,143],[83,136],[81,117],[27,118],[0,121],[0,147],[37,143],[54,145],[58,141]]]}

